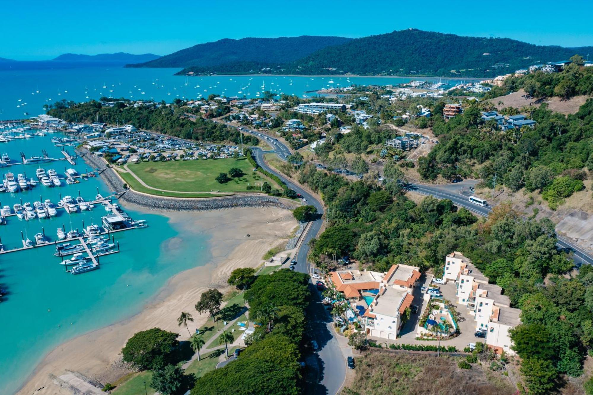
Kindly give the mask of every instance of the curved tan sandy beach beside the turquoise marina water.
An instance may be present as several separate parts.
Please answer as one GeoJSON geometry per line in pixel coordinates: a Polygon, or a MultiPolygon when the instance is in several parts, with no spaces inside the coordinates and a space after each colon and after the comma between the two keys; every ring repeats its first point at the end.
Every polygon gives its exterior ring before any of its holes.
{"type": "MultiPolygon", "coordinates": [[[[126,207],[138,209],[131,205],[126,207]]],[[[211,235],[212,261],[169,279],[160,292],[146,302],[144,310],[135,316],[55,348],[45,356],[18,394],[70,394],[53,384],[49,376],[59,376],[66,369],[81,372],[103,384],[116,381],[127,373],[119,364],[119,353],[126,340],[141,330],[160,327],[180,333],[178,339],[186,340],[189,337],[187,330],[177,326],[181,311],[190,312],[195,319],[194,323],[190,323],[190,330],[193,326],[200,326],[208,318],[206,314],[198,314],[194,308],[200,294],[208,288],[218,288],[223,293],[227,291],[227,278],[232,270],[260,265],[263,254],[280,240],[288,239],[297,227],[290,211],[274,207],[208,212],[167,211],[160,214],[170,218],[171,225],[180,231],[211,235]],[[247,234],[250,237],[246,237],[247,234]]],[[[165,248],[181,247],[176,238],[166,243],[165,248]]]]}

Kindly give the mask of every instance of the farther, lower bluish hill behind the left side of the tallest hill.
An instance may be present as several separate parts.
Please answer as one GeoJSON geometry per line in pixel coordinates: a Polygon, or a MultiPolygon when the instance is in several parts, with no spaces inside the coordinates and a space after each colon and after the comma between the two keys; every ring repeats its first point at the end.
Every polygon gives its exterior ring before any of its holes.
{"type": "Polygon", "coordinates": [[[130,67],[203,67],[224,65],[229,62],[292,62],[315,52],[318,49],[343,44],[351,39],[346,37],[299,36],[279,37],[278,39],[222,39],[212,43],[197,44],[193,47],[130,67]]]}

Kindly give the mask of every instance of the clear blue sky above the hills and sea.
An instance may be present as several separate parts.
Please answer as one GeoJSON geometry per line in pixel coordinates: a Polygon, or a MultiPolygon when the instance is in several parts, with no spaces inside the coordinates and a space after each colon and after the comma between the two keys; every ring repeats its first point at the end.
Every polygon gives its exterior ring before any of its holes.
{"type": "Polygon", "coordinates": [[[36,60],[67,52],[120,51],[166,55],[223,38],[363,37],[409,27],[576,47],[593,45],[591,15],[591,0],[8,0],[2,4],[0,57],[36,60]]]}

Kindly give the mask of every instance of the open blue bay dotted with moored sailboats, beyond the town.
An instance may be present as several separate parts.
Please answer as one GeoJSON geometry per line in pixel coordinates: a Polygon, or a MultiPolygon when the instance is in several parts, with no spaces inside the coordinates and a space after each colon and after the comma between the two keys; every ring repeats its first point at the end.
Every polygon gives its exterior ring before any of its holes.
{"type": "MultiPolygon", "coordinates": [[[[173,101],[197,98],[211,93],[256,98],[257,93],[311,97],[310,91],[327,87],[401,84],[409,77],[289,77],[289,76],[212,76],[173,75],[178,69],[123,68],[120,65],[67,62],[0,62],[0,119],[20,119],[43,113],[44,104],[67,99],[86,101],[101,96],[173,101]],[[333,81],[333,82],[332,82],[333,81]],[[103,88],[105,87],[105,88],[103,88]],[[262,88],[264,87],[264,88],[262,88]],[[39,91],[39,93],[37,92],[39,91]],[[241,91],[241,93],[239,93],[241,91]],[[26,104],[24,104],[26,103],[26,104]]],[[[444,79],[449,86],[460,83],[444,79]]]]}

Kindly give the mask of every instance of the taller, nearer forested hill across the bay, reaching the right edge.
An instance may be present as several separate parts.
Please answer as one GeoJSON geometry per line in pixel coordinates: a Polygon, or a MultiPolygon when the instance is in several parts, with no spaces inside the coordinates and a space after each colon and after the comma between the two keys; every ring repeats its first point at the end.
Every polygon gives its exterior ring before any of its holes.
{"type": "Polygon", "coordinates": [[[537,63],[566,60],[573,55],[586,57],[588,53],[593,53],[593,47],[538,46],[511,39],[463,37],[408,29],[327,46],[280,66],[270,65],[270,59],[262,59],[255,65],[253,62],[219,66],[193,64],[197,67],[183,72],[252,74],[270,67],[272,71],[264,71],[266,74],[494,77],[537,63]]]}

